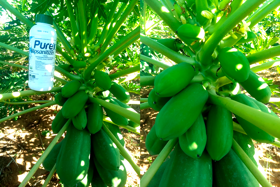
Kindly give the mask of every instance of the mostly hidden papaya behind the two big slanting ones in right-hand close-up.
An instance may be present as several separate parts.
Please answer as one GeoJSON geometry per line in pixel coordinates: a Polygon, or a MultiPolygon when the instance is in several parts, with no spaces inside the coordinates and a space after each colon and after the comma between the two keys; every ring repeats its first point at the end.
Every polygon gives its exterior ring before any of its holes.
{"type": "Polygon", "coordinates": [[[160,111],[162,107],[171,99],[171,97],[159,97],[155,94],[155,88],[150,91],[148,103],[152,109],[160,111]]]}

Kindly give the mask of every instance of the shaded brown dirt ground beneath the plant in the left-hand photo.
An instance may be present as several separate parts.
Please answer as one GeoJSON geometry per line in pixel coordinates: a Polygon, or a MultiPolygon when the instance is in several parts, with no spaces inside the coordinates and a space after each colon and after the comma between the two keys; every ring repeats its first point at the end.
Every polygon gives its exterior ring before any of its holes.
{"type": "MultiPolygon", "coordinates": [[[[133,80],[140,81],[140,80],[133,80]]],[[[140,96],[130,93],[131,100],[138,100],[140,96]]],[[[51,96],[54,100],[54,96],[51,96]]],[[[38,97],[34,100],[39,100],[38,97]]],[[[47,100],[47,96],[41,96],[40,100],[47,100]]],[[[34,107],[32,104],[30,107],[34,107]]],[[[134,110],[140,113],[139,105],[130,105],[134,110]]],[[[60,110],[60,106],[54,105],[46,107],[31,113],[19,116],[17,121],[8,120],[0,123],[0,186],[15,187],[18,186],[27,173],[32,169],[34,164],[42,155],[42,152],[48,147],[56,135],[51,137],[42,137],[42,130],[51,131],[51,123],[56,113],[60,110]],[[34,121],[38,120],[37,124],[34,121]],[[43,143],[43,146],[42,146],[43,143]]],[[[140,166],[140,135],[130,132],[124,128],[120,128],[123,138],[126,142],[126,148],[133,156],[133,160],[140,166]]],[[[51,131],[51,133],[53,133],[51,131]]],[[[59,142],[64,138],[64,134],[59,142]]],[[[136,172],[127,169],[127,184],[125,187],[139,187],[140,179],[136,172]]],[[[42,164],[33,175],[26,186],[42,186],[48,177],[47,172],[42,164]]],[[[59,179],[57,174],[52,177],[49,186],[59,187],[59,179]]]]}

